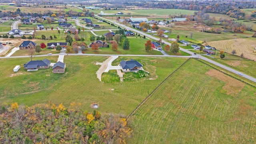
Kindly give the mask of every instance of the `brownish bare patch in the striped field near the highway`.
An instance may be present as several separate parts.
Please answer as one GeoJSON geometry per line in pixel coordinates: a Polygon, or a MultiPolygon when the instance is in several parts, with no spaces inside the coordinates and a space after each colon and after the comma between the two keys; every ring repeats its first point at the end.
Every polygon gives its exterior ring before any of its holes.
{"type": "Polygon", "coordinates": [[[209,70],[206,72],[206,75],[212,76],[218,80],[221,80],[222,82],[225,82],[226,84],[222,87],[222,89],[226,91],[226,94],[236,96],[244,88],[244,83],[234,78],[230,78],[218,70],[209,70]]]}

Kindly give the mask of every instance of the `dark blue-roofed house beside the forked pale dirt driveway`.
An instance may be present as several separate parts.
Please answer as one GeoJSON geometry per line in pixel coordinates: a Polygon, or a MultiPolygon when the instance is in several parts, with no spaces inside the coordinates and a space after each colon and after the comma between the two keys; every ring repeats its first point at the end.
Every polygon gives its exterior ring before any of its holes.
{"type": "Polygon", "coordinates": [[[123,72],[137,72],[139,70],[142,70],[142,64],[133,59],[128,61],[122,60],[120,62],[120,66],[123,72]]]}

